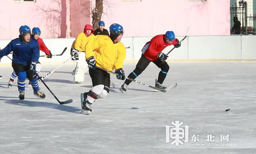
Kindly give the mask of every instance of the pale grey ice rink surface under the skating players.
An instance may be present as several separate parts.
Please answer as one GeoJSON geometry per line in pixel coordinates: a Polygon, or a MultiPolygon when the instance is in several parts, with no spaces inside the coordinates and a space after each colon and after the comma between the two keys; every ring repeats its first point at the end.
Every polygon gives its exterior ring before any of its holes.
{"type": "MultiPolygon", "coordinates": [[[[125,74],[135,65],[125,64],[125,74]]],[[[40,75],[57,66],[42,66],[40,75]]],[[[90,90],[91,79],[86,73],[84,82],[75,84],[70,74],[75,65],[64,65],[44,80],[59,100],[73,99],[67,105],[60,105],[42,83],[45,100],[26,88],[25,100],[20,101],[17,80],[6,88],[12,68],[0,67],[0,154],[255,154],[256,63],[179,62],[169,66],[164,85],[178,86],[168,93],[133,82],[122,94],[123,81],[111,75],[108,97],[96,100],[90,115],[80,114],[80,93],[90,90]],[[170,137],[166,143],[166,125],[174,126],[175,121],[189,126],[188,142],[179,146],[172,145],[170,137]],[[193,135],[198,137],[196,142],[193,135]],[[205,141],[207,135],[214,136],[212,142],[205,141]],[[221,142],[220,135],[229,135],[228,142],[221,142]],[[207,145],[211,143],[225,146],[207,145]]],[[[154,86],[159,71],[151,63],[136,80],[154,86]]]]}

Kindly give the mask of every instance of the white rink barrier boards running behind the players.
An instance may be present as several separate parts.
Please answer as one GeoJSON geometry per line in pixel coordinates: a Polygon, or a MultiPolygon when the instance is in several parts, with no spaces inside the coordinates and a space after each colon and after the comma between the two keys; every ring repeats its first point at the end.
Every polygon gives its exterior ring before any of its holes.
{"type": "MultiPolygon", "coordinates": [[[[123,37],[121,42],[126,47],[125,62],[137,62],[141,57],[141,49],[152,37],[123,37]]],[[[183,36],[177,37],[179,40],[183,36]]],[[[70,57],[70,48],[75,38],[43,39],[52,54],[60,54],[65,47],[67,51],[62,56],[52,59],[40,57],[41,63],[64,62],[70,57]]],[[[11,40],[0,40],[0,48],[6,47],[11,40]]],[[[256,36],[189,36],[169,54],[169,61],[256,61],[256,36]]],[[[163,50],[167,53],[173,48],[163,50]]],[[[44,55],[44,52],[40,52],[44,55]]],[[[12,54],[9,54],[12,58],[12,54]]],[[[11,64],[8,57],[1,59],[0,66],[11,64]]]]}

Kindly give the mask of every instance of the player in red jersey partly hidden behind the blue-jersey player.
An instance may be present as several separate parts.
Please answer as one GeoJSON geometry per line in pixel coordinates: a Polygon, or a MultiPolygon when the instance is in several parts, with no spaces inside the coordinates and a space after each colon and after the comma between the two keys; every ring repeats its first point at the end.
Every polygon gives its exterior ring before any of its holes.
{"type": "MultiPolygon", "coordinates": [[[[40,35],[41,35],[41,30],[38,27],[34,27],[32,29],[32,37],[38,41],[39,49],[47,55],[47,58],[52,58],[51,51],[49,51],[49,49],[45,46],[44,41],[41,38],[39,38],[40,35]]],[[[41,63],[38,61],[36,63],[35,71],[38,74],[40,72],[40,70],[41,70],[41,63]]],[[[12,84],[13,84],[14,80],[16,79],[16,77],[17,77],[17,74],[15,73],[15,71],[13,71],[11,74],[7,88],[12,87],[12,84]]]]}

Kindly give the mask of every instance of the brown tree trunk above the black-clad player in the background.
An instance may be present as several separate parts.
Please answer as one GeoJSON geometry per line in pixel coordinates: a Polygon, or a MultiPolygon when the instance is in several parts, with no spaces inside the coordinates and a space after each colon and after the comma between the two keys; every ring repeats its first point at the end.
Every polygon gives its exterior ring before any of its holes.
{"type": "Polygon", "coordinates": [[[98,29],[98,23],[101,20],[103,12],[103,0],[95,0],[95,9],[93,10],[93,29],[98,29]]]}

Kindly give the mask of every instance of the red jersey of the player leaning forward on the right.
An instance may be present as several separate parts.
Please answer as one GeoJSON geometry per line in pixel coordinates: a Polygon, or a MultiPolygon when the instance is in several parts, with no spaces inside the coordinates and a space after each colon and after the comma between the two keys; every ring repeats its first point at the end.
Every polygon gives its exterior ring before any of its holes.
{"type": "Polygon", "coordinates": [[[176,45],[177,39],[170,41],[168,44],[164,42],[164,34],[153,37],[149,42],[145,44],[142,52],[146,58],[151,61],[157,60],[157,54],[163,51],[167,46],[176,45]]]}

